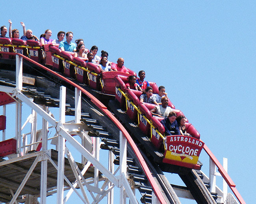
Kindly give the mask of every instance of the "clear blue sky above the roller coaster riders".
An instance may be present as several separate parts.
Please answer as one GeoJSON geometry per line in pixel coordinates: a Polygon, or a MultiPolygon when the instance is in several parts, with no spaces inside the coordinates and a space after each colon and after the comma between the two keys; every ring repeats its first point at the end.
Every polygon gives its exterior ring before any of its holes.
{"type": "MultiPolygon", "coordinates": [[[[0,24],[40,36],[73,31],[85,47],[164,85],[222,163],[244,200],[256,187],[254,1],[4,1],[0,24]]],[[[73,41],[74,41],[73,40],[73,41]]],[[[208,162],[207,158],[200,158],[208,162]]],[[[207,171],[207,170],[205,170],[207,171]]],[[[207,172],[206,172],[207,173],[207,172]]],[[[186,202],[186,201],[185,201],[186,202]]],[[[185,203],[183,202],[183,203],[185,203]]]]}

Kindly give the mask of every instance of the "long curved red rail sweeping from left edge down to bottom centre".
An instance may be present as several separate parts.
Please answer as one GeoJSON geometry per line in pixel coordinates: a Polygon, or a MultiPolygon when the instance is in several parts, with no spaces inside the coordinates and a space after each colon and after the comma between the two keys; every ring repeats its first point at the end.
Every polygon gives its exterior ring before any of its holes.
{"type": "Polygon", "coordinates": [[[85,89],[83,89],[82,87],[78,86],[76,83],[70,81],[69,79],[66,79],[64,76],[54,72],[53,70],[50,70],[49,68],[46,68],[45,66],[43,66],[42,64],[39,64],[38,62],[33,61],[32,59],[25,57],[24,55],[21,55],[19,53],[7,53],[7,52],[0,52],[0,54],[9,54],[9,55],[19,55],[20,57],[23,57],[23,59],[26,59],[29,62],[32,62],[33,64],[39,66],[40,68],[50,72],[51,74],[56,75],[57,77],[59,77],[60,79],[62,79],[63,81],[66,81],[67,83],[69,83],[70,85],[78,88],[79,90],[81,90],[83,92],[83,94],[85,94],[86,96],[88,96],[91,101],[98,107],[100,108],[100,110],[102,110],[102,112],[104,112],[104,114],[106,114],[106,116],[108,116],[109,119],[111,119],[115,125],[117,125],[117,127],[121,130],[121,132],[124,134],[124,136],[126,137],[126,140],[129,142],[129,144],[131,145],[134,153],[136,154],[139,163],[141,164],[141,167],[143,169],[143,171],[145,172],[153,190],[154,193],[156,194],[156,197],[158,197],[159,201],[161,204],[167,204],[167,202],[165,201],[160,189],[158,188],[156,181],[154,180],[153,176],[151,175],[150,170],[148,169],[148,166],[143,158],[143,156],[141,155],[141,153],[139,152],[139,149],[137,148],[136,144],[134,143],[134,141],[132,140],[130,134],[127,132],[127,130],[122,126],[122,124],[118,121],[117,118],[115,118],[115,116],[113,116],[113,114],[108,110],[108,108],[101,103],[96,97],[94,97],[92,94],[90,94],[89,92],[87,92],[85,89]]]}

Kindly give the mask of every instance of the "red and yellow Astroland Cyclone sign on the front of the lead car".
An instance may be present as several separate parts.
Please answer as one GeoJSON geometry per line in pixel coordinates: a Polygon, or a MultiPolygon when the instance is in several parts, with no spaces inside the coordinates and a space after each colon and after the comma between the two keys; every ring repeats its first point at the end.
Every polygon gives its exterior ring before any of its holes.
{"type": "Polygon", "coordinates": [[[189,136],[167,136],[165,140],[165,158],[197,164],[204,143],[189,136]]]}

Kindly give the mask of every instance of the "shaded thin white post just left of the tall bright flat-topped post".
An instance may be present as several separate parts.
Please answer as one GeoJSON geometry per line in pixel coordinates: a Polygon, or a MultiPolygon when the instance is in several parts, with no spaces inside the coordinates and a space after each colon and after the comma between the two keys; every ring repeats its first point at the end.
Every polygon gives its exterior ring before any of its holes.
{"type": "MultiPolygon", "coordinates": [[[[43,110],[48,112],[48,107],[43,106],[43,110]]],[[[45,152],[48,149],[48,122],[43,118],[42,121],[42,151],[43,158],[41,162],[41,189],[40,189],[40,204],[46,204],[46,193],[47,193],[47,157],[45,152]]]]}

